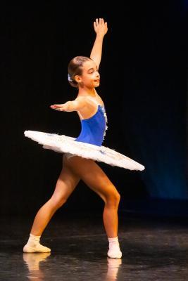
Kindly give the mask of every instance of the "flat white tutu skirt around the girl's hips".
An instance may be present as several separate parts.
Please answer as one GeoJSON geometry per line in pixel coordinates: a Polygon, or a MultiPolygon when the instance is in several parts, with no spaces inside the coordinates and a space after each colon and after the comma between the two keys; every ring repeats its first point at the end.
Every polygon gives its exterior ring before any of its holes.
{"type": "Polygon", "coordinates": [[[97,146],[89,143],[75,141],[75,138],[56,133],[44,133],[40,131],[25,131],[25,136],[43,145],[43,148],[56,152],[69,152],[87,159],[94,159],[111,166],[119,166],[130,170],[143,171],[145,167],[123,154],[105,146],[97,146]]]}

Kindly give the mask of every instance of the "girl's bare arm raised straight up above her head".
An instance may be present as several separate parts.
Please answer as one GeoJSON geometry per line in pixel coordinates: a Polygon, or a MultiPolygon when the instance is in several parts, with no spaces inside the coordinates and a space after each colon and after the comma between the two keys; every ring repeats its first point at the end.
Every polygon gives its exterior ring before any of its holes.
{"type": "Polygon", "coordinates": [[[108,31],[107,22],[104,22],[103,18],[96,18],[96,20],[94,21],[94,31],[96,32],[96,39],[94,41],[94,46],[92,48],[90,58],[94,60],[99,69],[99,65],[101,63],[103,39],[104,35],[108,31]]]}

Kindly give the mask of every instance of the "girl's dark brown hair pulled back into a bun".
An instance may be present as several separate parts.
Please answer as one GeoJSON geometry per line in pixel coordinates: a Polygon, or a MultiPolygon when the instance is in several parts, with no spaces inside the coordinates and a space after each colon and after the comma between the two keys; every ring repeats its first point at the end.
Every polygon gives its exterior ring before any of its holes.
{"type": "Polygon", "coordinates": [[[91,58],[84,57],[79,55],[72,60],[68,64],[68,82],[71,86],[77,88],[77,81],[75,81],[75,75],[82,75],[83,63],[91,60],[91,58]]]}

